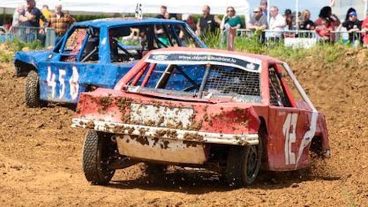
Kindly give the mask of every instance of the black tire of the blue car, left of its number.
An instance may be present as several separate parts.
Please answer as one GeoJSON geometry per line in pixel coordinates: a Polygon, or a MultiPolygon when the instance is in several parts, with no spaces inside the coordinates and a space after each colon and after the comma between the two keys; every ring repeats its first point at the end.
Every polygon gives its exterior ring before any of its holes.
{"type": "Polygon", "coordinates": [[[26,105],[30,108],[36,108],[41,106],[39,98],[39,84],[38,74],[35,71],[30,71],[26,78],[25,85],[26,105]]]}

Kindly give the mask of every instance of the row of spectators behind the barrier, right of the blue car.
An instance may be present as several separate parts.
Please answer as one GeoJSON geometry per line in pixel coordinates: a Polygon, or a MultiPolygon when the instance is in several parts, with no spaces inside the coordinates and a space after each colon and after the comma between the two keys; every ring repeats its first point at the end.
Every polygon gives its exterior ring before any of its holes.
{"type": "MultiPolygon", "coordinates": [[[[185,16],[186,18],[183,20],[190,25],[197,35],[205,32],[214,33],[216,29],[225,31],[228,27],[233,27],[251,31],[267,30],[268,36],[277,41],[285,36],[283,31],[298,30],[315,31],[321,41],[333,42],[336,33],[342,31],[342,28],[346,28],[350,42],[361,41],[368,45],[368,17],[359,20],[354,8],[347,11],[346,19],[343,21],[340,21],[333,14],[330,6],[321,8],[318,17],[314,21],[311,20],[309,10],[303,10],[296,14],[296,12],[286,9],[284,13],[280,13],[277,6],[271,6],[268,13],[267,8],[267,0],[261,0],[260,5],[252,10],[252,15],[249,18],[245,17],[245,22],[242,22],[242,18],[237,15],[234,7],[226,8],[226,13],[221,20],[217,15],[211,14],[210,6],[205,5],[202,7],[202,15],[197,23],[195,23],[192,15],[185,16]],[[268,17],[268,15],[270,16],[268,17]]],[[[166,7],[165,11],[167,11],[166,7]]]]}

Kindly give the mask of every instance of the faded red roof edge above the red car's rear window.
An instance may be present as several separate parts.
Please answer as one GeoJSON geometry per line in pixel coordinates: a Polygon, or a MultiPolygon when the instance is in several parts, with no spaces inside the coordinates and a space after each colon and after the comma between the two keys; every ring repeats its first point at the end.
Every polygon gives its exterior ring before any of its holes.
{"type": "Polygon", "coordinates": [[[253,58],[260,60],[261,62],[267,62],[267,63],[277,63],[282,64],[283,61],[266,56],[266,55],[258,55],[258,54],[252,54],[252,53],[245,53],[245,52],[237,52],[237,51],[227,51],[227,50],[218,50],[218,49],[207,49],[207,48],[182,48],[182,47],[171,47],[171,48],[163,48],[163,49],[157,49],[153,50],[150,53],[159,53],[162,52],[200,52],[200,53],[215,53],[221,56],[225,55],[237,55],[237,56],[243,56],[247,58],[253,58]]]}

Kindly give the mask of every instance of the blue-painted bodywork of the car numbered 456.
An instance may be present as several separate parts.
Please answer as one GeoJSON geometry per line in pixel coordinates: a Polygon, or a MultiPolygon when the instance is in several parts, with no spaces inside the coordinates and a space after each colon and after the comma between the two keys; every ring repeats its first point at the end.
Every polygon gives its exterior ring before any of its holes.
{"type": "MultiPolygon", "coordinates": [[[[109,29],[123,26],[142,25],[180,25],[189,30],[190,35],[199,42],[200,47],[206,45],[194,34],[183,21],[144,18],[139,19],[98,19],[77,22],[63,37],[68,37],[77,28],[92,28],[99,31],[98,61],[80,62],[82,50],[76,54],[64,52],[66,38],[62,38],[53,51],[17,52],[15,61],[33,65],[39,74],[40,99],[50,102],[77,103],[79,94],[89,86],[113,88],[114,85],[132,68],[137,61],[111,62],[109,29]],[[60,61],[65,57],[76,57],[75,61],[60,61]],[[78,76],[76,75],[78,74],[78,76]],[[77,78],[76,78],[77,77],[77,78]],[[76,81],[73,81],[76,78],[76,81]],[[77,87],[77,86],[78,87],[77,87]]],[[[87,36],[82,47],[87,43],[87,36]]],[[[175,36],[175,35],[174,35],[175,36]]],[[[124,45],[128,48],[129,45],[124,45]]]]}

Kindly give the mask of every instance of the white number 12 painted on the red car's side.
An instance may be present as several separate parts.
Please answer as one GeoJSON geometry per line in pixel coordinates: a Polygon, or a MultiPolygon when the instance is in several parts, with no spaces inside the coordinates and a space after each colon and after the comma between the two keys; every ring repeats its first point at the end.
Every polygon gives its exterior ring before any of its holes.
{"type": "Polygon", "coordinates": [[[285,136],[285,164],[294,165],[295,164],[295,153],[291,151],[291,145],[296,141],[296,123],[297,123],[297,113],[289,113],[286,117],[283,133],[285,136]]]}

